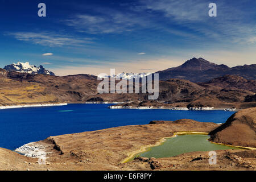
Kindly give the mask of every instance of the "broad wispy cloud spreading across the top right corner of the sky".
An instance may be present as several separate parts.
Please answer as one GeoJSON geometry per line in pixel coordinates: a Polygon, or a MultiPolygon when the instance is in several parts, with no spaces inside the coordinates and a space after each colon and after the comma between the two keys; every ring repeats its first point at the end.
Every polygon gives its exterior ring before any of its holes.
{"type": "MultiPolygon", "coordinates": [[[[253,3],[245,0],[247,3],[253,3]]],[[[201,0],[148,0],[140,1],[144,9],[162,13],[170,22],[192,30],[194,35],[225,42],[255,43],[255,11],[243,7],[246,2],[217,1],[217,17],[208,16],[208,1],[201,0]],[[250,16],[248,16],[250,14],[250,16]],[[246,21],[245,21],[246,19],[246,21]]],[[[168,31],[168,28],[166,29],[168,31]]],[[[184,34],[171,30],[177,34],[184,34]]],[[[190,33],[191,34],[191,33],[190,33]]]]}

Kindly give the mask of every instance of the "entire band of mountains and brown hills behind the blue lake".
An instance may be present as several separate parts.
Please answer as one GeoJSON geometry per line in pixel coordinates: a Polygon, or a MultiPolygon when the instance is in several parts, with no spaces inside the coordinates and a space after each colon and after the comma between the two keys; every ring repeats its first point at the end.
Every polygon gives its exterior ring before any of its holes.
{"type": "MultiPolygon", "coordinates": [[[[256,106],[256,81],[255,79],[245,78],[246,76],[255,78],[255,65],[230,68],[233,70],[239,69],[245,77],[234,74],[210,78],[214,75],[205,75],[204,80],[207,81],[193,82],[189,80],[198,81],[202,78],[201,75],[196,75],[197,72],[206,74],[206,72],[213,72],[213,69],[216,69],[216,72],[221,74],[221,70],[225,73],[226,66],[210,63],[204,59],[191,59],[180,67],[164,71],[164,73],[170,72],[172,75],[174,71],[178,73],[177,70],[183,70],[180,71],[177,77],[182,77],[183,73],[187,73],[191,77],[186,76],[187,80],[181,78],[166,78],[166,80],[162,78],[159,81],[159,97],[156,101],[148,101],[148,94],[142,93],[99,94],[97,86],[100,81],[97,80],[97,76],[86,74],[54,76],[51,73],[40,74],[40,72],[36,74],[33,70],[32,72],[29,71],[32,68],[28,65],[22,65],[22,72],[0,69],[0,105],[125,102],[127,106],[157,107],[246,108],[256,106]],[[243,69],[250,69],[251,72],[242,72],[243,69]]],[[[35,67],[33,69],[35,70],[35,67]]],[[[160,77],[163,77],[161,76],[162,73],[159,72],[160,77]]],[[[138,75],[121,73],[119,77],[138,75]]]]}

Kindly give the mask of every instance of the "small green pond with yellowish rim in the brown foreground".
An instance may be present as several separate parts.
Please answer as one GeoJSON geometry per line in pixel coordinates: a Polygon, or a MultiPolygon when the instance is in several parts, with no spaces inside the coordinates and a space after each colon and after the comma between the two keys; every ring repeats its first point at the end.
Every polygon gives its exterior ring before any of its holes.
{"type": "Polygon", "coordinates": [[[167,138],[163,144],[151,147],[146,152],[142,152],[137,156],[167,158],[195,151],[240,149],[238,147],[210,143],[208,139],[209,136],[207,135],[178,135],[174,138],[167,138]]]}

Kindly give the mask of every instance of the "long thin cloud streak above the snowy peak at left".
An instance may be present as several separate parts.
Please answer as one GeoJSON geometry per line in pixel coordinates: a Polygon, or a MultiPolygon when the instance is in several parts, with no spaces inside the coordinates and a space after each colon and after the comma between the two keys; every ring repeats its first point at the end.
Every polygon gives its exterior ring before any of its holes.
{"type": "Polygon", "coordinates": [[[88,38],[75,38],[53,32],[8,32],[7,35],[14,36],[17,40],[49,47],[82,46],[92,43],[88,38]]]}

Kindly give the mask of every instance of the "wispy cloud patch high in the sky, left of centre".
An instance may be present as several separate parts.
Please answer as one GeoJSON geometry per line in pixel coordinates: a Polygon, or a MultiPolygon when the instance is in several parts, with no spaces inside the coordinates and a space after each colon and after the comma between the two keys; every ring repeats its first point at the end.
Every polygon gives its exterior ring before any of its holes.
{"type": "Polygon", "coordinates": [[[77,14],[72,18],[63,20],[68,26],[75,27],[80,32],[89,34],[119,34],[144,27],[150,22],[143,16],[134,13],[123,13],[114,9],[96,9],[100,14],[77,14]]]}

